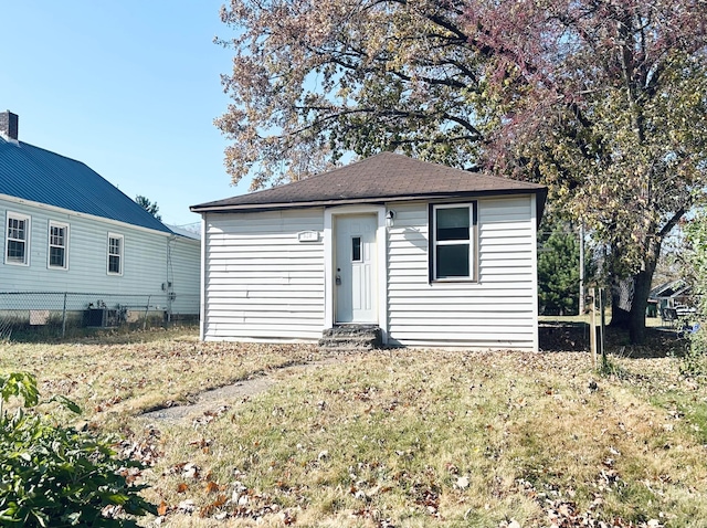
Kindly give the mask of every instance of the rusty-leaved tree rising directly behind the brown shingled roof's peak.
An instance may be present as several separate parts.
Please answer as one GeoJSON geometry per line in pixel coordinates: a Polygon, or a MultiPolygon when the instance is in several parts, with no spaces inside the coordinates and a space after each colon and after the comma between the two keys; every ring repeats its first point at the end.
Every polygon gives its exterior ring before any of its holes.
{"type": "Polygon", "coordinates": [[[347,152],[402,150],[468,167],[478,158],[485,57],[465,30],[465,3],[233,0],[236,36],[222,77],[233,104],[217,125],[233,140],[236,183],[296,180],[347,152]]]}

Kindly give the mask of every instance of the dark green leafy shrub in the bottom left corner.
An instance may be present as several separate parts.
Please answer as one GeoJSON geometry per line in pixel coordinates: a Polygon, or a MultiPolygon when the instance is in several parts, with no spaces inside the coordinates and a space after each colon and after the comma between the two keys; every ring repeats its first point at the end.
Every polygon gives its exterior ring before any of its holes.
{"type": "MultiPolygon", "coordinates": [[[[80,412],[66,398],[50,401],[80,412]]],[[[0,374],[1,526],[135,527],[133,517],[155,513],[138,495],[146,486],[128,482],[140,463],[117,458],[106,440],[52,423],[38,404],[32,374],[0,374]],[[3,404],[12,397],[23,405],[10,413],[3,404]]]]}

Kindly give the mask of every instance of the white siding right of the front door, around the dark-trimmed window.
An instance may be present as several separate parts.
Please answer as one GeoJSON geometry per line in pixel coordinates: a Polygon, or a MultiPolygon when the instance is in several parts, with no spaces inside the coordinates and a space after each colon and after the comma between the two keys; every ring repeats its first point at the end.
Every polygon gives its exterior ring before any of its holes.
{"type": "Polygon", "coordinates": [[[425,203],[395,204],[389,230],[391,344],[537,348],[531,197],[477,202],[477,282],[430,282],[425,203]]]}

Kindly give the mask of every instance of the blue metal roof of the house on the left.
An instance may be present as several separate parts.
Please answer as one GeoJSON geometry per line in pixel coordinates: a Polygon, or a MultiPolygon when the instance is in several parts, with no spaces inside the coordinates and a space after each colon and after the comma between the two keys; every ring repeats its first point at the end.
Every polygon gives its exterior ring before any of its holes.
{"type": "Polygon", "coordinates": [[[0,137],[0,194],[171,233],[81,161],[0,137]]]}

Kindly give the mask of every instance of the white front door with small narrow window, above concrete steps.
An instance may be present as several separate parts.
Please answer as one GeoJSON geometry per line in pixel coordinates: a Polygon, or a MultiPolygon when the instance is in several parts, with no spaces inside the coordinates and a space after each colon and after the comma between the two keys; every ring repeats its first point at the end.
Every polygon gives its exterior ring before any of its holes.
{"type": "Polygon", "coordinates": [[[336,218],[336,321],[376,323],[374,214],[336,218]]]}

